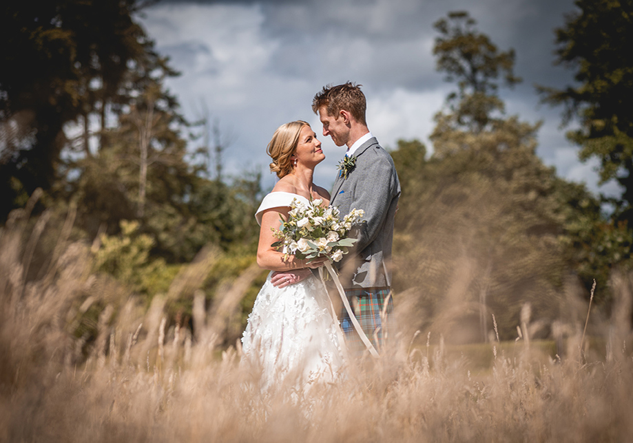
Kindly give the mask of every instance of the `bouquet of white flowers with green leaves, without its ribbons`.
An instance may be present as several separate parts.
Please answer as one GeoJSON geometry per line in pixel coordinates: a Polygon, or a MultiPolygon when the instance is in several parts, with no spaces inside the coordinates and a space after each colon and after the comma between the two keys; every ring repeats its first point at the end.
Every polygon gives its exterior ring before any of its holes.
{"type": "Polygon", "coordinates": [[[347,248],[356,241],[347,236],[364,211],[352,209],[341,219],[338,208],[324,208],[321,203],[322,199],[309,204],[293,199],[288,219],[282,219],[280,229],[272,228],[273,234],[280,240],[271,246],[283,250],[286,258],[295,255],[298,259],[329,257],[332,261],[340,261],[347,248]]]}

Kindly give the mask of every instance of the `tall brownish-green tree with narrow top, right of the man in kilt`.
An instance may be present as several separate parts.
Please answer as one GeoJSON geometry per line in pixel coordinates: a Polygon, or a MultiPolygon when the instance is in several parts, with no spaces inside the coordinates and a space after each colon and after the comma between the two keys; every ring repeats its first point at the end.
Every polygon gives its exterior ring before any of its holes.
{"type": "Polygon", "coordinates": [[[466,12],[449,14],[436,28],[437,68],[457,91],[436,116],[430,159],[420,158],[419,142],[401,140],[393,153],[404,177],[394,281],[399,290],[417,288],[410,311],[426,314],[419,314],[427,319],[421,327],[455,341],[487,340],[495,314],[501,338],[514,338],[524,303],[545,322],[561,312],[572,271],[572,241],[563,238],[581,213],[574,205],[582,199],[590,213],[599,204],[537,157],[539,123],[504,115],[497,78],[519,81],[514,52],[499,53],[466,12]],[[411,153],[414,162],[407,161],[411,153]],[[459,336],[464,329],[467,338],[459,336]]]}

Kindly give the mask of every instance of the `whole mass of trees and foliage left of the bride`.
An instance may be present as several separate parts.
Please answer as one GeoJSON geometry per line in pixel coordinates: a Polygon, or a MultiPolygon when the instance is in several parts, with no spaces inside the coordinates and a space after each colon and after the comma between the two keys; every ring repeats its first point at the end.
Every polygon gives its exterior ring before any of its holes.
{"type": "Polygon", "coordinates": [[[259,177],[205,178],[189,147],[195,128],[165,87],[178,73],[134,17],[149,3],[3,6],[0,217],[41,187],[49,205],[77,208],[88,238],[136,220],[169,262],[209,242],[252,246],[259,177]]]}

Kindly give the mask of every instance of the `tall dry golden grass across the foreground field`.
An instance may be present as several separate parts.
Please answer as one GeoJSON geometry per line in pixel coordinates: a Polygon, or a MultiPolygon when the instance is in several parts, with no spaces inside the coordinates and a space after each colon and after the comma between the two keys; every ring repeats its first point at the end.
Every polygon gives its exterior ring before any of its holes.
{"type": "MultiPolygon", "coordinates": [[[[238,364],[239,347],[218,349],[253,270],[210,309],[196,295],[193,332],[167,327],[169,294],[145,309],[92,275],[89,248],[63,236],[50,270],[27,281],[30,245],[43,227],[26,233],[26,212],[0,232],[2,442],[623,442],[633,435],[630,277],[614,280],[619,305],[602,325],[608,352],[592,363],[580,349],[583,323],[563,320],[554,329],[567,336],[565,357],[537,358],[526,307],[519,347],[510,353],[495,343],[488,371],[475,373],[441,340],[417,347],[401,336],[388,356],[350,365],[337,385],[262,394],[257,372],[238,364]],[[71,332],[92,303],[105,307],[87,347],[71,332]]],[[[198,260],[172,290],[198,285],[211,261],[212,254],[198,260]]]]}

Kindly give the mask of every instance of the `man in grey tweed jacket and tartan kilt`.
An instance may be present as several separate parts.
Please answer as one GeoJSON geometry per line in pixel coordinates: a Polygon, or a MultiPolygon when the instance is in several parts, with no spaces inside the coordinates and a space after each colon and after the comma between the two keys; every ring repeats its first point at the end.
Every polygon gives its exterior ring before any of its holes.
{"type": "MultiPolygon", "coordinates": [[[[323,136],[337,146],[346,145],[330,204],[342,215],[353,208],[364,210],[358,241],[340,265],[340,279],[355,317],[379,352],[384,347],[384,322],[390,323],[391,245],[393,222],[400,195],[398,176],[387,153],[371,134],[365,120],[366,100],[360,85],[324,87],[314,96],[312,110],[319,115],[323,136]]],[[[348,313],[341,325],[350,350],[358,354],[364,345],[348,313]]]]}

